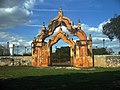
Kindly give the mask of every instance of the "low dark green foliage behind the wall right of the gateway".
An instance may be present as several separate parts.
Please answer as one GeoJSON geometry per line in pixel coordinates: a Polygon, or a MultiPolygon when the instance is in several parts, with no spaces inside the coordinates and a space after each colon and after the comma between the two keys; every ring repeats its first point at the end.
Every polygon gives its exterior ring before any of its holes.
{"type": "Polygon", "coordinates": [[[110,55],[112,53],[113,53],[112,49],[109,49],[109,50],[107,50],[106,48],[93,49],[94,55],[110,55]]]}

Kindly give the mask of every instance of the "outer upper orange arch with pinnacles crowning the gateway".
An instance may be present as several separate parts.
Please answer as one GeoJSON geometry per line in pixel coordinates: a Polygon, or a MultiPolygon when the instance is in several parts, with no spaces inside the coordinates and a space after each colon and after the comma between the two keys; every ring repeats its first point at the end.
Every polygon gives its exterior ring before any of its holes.
{"type": "Polygon", "coordinates": [[[80,20],[78,21],[78,26],[74,27],[73,22],[65,17],[63,15],[62,9],[59,10],[58,16],[50,21],[48,28],[45,27],[45,23],[42,25],[42,32],[40,35],[38,35],[38,41],[44,42],[44,40],[52,35],[57,27],[59,26],[65,26],[67,30],[73,34],[74,36],[77,36],[80,40],[86,40],[86,34],[83,30],[81,30],[81,24],[80,20]]]}

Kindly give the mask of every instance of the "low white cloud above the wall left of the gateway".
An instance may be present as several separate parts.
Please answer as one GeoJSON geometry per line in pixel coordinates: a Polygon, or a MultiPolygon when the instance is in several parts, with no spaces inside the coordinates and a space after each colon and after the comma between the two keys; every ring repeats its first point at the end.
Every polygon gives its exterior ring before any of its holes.
{"type": "Polygon", "coordinates": [[[27,47],[27,53],[31,52],[31,42],[32,41],[26,41],[23,39],[23,37],[19,35],[9,34],[7,32],[0,32],[0,38],[2,41],[0,41],[0,44],[4,47],[7,47],[7,42],[10,44],[15,45],[14,52],[17,53],[17,46],[19,46],[19,54],[23,54],[25,52],[25,47],[27,47]],[[4,39],[7,41],[4,42],[4,39]]]}

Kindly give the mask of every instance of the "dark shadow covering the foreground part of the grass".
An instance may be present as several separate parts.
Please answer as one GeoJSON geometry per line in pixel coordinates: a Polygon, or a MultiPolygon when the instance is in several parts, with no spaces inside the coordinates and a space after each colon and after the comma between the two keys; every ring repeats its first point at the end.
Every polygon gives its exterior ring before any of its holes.
{"type": "Polygon", "coordinates": [[[0,90],[120,90],[120,71],[0,80],[0,90]]]}

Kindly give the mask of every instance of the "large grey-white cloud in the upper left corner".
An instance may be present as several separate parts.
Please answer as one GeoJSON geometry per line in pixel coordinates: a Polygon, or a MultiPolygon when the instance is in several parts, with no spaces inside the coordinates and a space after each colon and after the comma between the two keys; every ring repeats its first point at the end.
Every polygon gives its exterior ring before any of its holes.
{"type": "Polygon", "coordinates": [[[29,23],[36,0],[0,0],[0,29],[29,23]]]}

